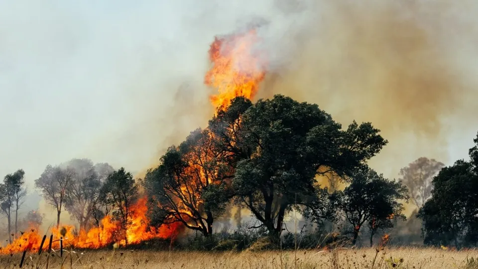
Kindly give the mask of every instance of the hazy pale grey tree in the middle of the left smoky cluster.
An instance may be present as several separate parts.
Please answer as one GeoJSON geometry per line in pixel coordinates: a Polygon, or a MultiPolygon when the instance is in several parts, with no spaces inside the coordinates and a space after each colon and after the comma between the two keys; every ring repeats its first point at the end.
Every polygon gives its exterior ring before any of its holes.
{"type": "Polygon", "coordinates": [[[70,167],[75,171],[66,188],[65,209],[78,221],[80,230],[87,230],[93,209],[100,199],[102,182],[90,159],[72,159],[60,167],[70,167]]]}

